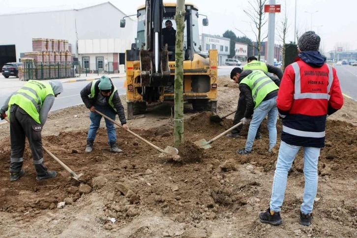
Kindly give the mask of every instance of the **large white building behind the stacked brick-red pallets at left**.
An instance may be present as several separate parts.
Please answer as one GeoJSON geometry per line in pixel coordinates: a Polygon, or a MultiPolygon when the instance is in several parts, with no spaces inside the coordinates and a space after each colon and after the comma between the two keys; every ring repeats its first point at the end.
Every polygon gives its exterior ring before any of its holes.
{"type": "Polygon", "coordinates": [[[125,49],[130,49],[136,37],[135,20],[126,18],[125,28],[120,28],[124,16],[110,2],[79,9],[58,7],[0,15],[0,22],[12,26],[9,34],[2,31],[0,37],[0,67],[7,62],[18,62],[21,53],[32,52],[32,38],[68,40],[72,54],[81,65],[86,60],[91,70],[98,63],[102,67],[102,62],[124,64],[125,49]],[[89,57],[89,62],[85,57],[89,57]]]}

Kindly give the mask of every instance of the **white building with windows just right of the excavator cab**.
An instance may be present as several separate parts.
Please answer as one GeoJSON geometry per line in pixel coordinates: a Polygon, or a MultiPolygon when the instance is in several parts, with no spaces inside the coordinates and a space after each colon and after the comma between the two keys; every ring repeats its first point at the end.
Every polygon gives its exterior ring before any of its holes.
{"type": "Polygon", "coordinates": [[[202,34],[202,52],[208,52],[210,49],[218,50],[218,65],[224,65],[230,52],[230,39],[215,35],[202,34]]]}

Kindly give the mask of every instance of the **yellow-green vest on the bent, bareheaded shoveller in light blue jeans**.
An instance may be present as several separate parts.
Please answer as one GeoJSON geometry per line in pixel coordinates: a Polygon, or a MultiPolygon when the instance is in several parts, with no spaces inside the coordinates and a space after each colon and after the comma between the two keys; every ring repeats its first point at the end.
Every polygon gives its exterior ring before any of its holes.
{"type": "Polygon", "coordinates": [[[244,83],[252,90],[254,109],[264,100],[264,98],[279,89],[278,86],[271,80],[267,74],[261,70],[254,70],[251,74],[243,78],[240,83],[244,83]]]}

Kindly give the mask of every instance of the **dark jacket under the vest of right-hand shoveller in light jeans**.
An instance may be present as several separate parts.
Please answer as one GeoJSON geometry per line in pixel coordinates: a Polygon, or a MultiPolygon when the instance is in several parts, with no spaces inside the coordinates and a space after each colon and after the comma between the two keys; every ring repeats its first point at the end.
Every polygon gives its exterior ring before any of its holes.
{"type": "MultiPolygon", "coordinates": [[[[254,101],[253,101],[253,95],[252,95],[252,90],[249,88],[248,85],[246,85],[245,83],[240,83],[243,78],[245,78],[246,76],[248,76],[249,74],[251,74],[253,71],[252,70],[243,70],[238,78],[238,83],[239,83],[239,91],[241,94],[244,95],[245,101],[247,102],[247,106],[245,109],[245,113],[244,113],[244,117],[245,118],[250,118],[253,115],[254,112],[254,101]]],[[[279,87],[280,86],[280,79],[278,79],[277,77],[271,76],[270,77],[272,81],[274,81],[274,83],[279,87]]],[[[278,95],[278,90],[272,91],[270,92],[263,101],[267,101],[271,98],[274,98],[278,95]]]]}

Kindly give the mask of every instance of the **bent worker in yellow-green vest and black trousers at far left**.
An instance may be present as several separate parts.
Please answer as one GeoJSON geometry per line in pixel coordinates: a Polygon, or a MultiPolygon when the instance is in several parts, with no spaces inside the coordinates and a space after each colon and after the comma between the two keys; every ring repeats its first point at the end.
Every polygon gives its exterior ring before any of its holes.
{"type": "Polygon", "coordinates": [[[41,131],[46,123],[55,98],[63,92],[59,80],[42,82],[29,80],[18,91],[4,102],[0,109],[0,119],[3,120],[8,111],[10,120],[10,181],[18,180],[24,175],[25,138],[30,143],[32,160],[37,173],[37,180],[53,178],[56,171],[49,171],[43,163],[41,131]]]}

